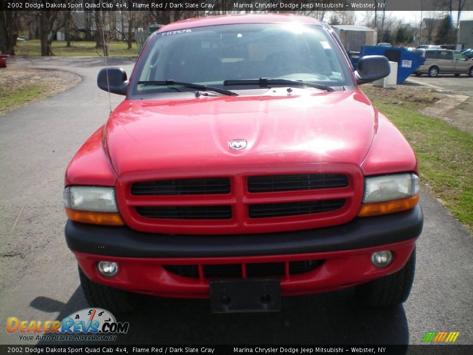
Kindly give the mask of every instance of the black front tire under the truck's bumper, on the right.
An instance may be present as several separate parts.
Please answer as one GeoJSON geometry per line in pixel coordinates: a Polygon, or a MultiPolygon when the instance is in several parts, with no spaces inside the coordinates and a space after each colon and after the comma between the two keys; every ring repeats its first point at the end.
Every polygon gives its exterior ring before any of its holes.
{"type": "Polygon", "coordinates": [[[398,272],[359,286],[367,306],[394,307],[409,297],[415,271],[415,249],[405,266],[398,272]]]}

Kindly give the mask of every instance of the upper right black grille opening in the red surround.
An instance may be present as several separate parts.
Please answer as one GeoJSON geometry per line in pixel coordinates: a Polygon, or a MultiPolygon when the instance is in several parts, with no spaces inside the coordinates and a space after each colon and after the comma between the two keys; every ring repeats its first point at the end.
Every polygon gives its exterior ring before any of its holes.
{"type": "Polygon", "coordinates": [[[348,177],[341,174],[272,175],[248,178],[249,192],[315,190],[346,186],[348,177]]]}

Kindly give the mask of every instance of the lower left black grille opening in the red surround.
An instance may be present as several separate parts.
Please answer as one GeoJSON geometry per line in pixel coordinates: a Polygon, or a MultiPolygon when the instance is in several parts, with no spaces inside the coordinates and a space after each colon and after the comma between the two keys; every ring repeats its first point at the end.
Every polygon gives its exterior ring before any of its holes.
{"type": "Polygon", "coordinates": [[[136,212],[147,218],[163,219],[230,219],[230,206],[152,206],[136,207],[136,212]]]}

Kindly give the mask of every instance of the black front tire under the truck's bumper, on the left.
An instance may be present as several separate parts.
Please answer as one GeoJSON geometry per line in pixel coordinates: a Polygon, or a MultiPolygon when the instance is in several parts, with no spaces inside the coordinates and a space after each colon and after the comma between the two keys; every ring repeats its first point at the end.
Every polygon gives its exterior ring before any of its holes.
{"type": "Polygon", "coordinates": [[[112,313],[128,313],[136,308],[136,295],[89,280],[79,267],[79,279],[87,303],[112,313]]]}

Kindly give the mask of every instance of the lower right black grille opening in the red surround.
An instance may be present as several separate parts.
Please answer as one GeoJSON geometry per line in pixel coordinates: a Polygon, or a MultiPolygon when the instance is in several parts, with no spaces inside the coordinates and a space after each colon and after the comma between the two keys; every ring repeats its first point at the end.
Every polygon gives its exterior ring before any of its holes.
{"type": "Polygon", "coordinates": [[[336,211],[342,208],[344,204],[345,199],[299,201],[250,205],[248,209],[250,218],[266,218],[336,211]]]}

